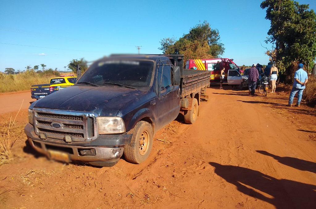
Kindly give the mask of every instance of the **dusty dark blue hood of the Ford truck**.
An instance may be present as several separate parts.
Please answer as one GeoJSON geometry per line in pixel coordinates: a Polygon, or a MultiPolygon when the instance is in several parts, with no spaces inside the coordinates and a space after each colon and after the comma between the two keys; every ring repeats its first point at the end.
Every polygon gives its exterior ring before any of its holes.
{"type": "Polygon", "coordinates": [[[34,102],[33,107],[87,111],[95,112],[99,116],[116,116],[121,107],[143,93],[145,92],[139,89],[125,87],[76,85],[34,102]]]}

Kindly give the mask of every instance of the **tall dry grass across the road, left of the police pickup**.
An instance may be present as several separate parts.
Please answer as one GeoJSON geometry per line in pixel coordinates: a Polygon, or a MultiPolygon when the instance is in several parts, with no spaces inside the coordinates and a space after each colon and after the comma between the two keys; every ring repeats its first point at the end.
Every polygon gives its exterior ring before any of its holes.
{"type": "Polygon", "coordinates": [[[16,75],[0,73],[0,93],[29,90],[32,85],[49,83],[52,77],[56,76],[33,72],[16,75]]]}

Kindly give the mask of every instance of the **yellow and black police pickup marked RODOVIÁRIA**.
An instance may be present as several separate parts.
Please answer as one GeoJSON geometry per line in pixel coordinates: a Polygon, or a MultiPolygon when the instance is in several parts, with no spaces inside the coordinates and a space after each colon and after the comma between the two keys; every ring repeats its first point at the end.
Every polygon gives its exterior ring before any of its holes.
{"type": "Polygon", "coordinates": [[[47,84],[39,84],[31,86],[31,98],[40,99],[60,89],[73,86],[77,81],[74,75],[62,75],[60,77],[51,78],[47,84]]]}

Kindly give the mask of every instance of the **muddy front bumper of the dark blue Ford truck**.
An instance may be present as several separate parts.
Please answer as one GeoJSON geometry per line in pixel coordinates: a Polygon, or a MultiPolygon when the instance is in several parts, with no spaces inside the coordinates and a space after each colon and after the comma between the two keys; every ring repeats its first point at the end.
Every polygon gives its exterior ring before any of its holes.
{"type": "Polygon", "coordinates": [[[100,166],[105,166],[102,162],[108,162],[109,165],[116,164],[123,154],[124,145],[129,144],[132,137],[132,134],[101,134],[97,139],[86,143],[75,141],[67,143],[64,140],[53,138],[43,140],[35,134],[30,123],[25,126],[24,133],[27,135],[30,145],[49,158],[51,157],[50,151],[53,150],[67,154],[71,161],[83,161],[100,166]],[[82,155],[80,152],[82,149],[94,149],[95,155],[82,155]]]}

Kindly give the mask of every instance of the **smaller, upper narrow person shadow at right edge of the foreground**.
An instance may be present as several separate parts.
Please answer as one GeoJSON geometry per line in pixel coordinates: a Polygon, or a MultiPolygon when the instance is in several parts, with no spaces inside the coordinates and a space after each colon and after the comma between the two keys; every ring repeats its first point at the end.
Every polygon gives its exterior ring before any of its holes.
{"type": "Polygon", "coordinates": [[[271,154],[271,153],[263,151],[263,150],[256,150],[256,152],[263,154],[263,155],[270,156],[270,157],[276,159],[279,163],[290,166],[292,168],[296,168],[298,170],[307,170],[307,171],[316,173],[316,163],[313,163],[313,162],[310,162],[307,160],[298,159],[298,158],[280,157],[280,156],[271,154]]]}

